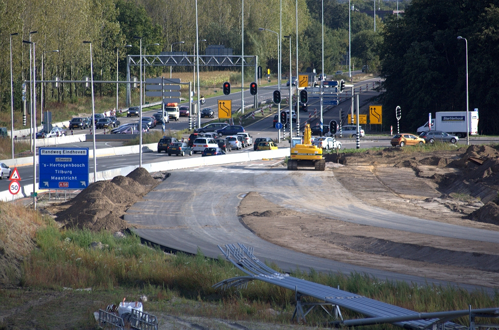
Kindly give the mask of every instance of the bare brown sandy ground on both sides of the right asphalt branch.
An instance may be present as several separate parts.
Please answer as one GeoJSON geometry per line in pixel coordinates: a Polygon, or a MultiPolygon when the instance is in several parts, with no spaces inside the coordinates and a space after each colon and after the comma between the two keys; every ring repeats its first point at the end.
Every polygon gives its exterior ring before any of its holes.
{"type": "MultiPolygon", "coordinates": [[[[497,205],[491,196],[497,191],[494,164],[499,154],[493,148],[480,148],[473,147],[467,153],[461,150],[407,155],[389,148],[338,159],[334,155],[329,157],[326,170],[367,204],[429,220],[499,231],[493,216],[482,214],[492,223],[467,219],[472,212],[488,212],[480,199],[488,200],[487,205],[497,205]],[[483,157],[491,165],[464,162],[470,155],[483,157]],[[463,189],[470,185],[482,186],[476,189],[478,198],[459,189],[449,191],[453,186],[463,189]]],[[[499,287],[499,244],[305,214],[271,203],[254,192],[243,199],[239,214],[261,238],[295,251],[398,273],[499,287]]]]}

